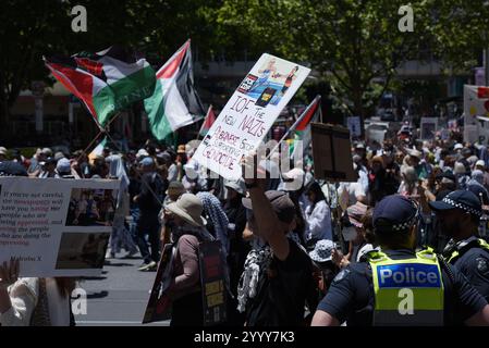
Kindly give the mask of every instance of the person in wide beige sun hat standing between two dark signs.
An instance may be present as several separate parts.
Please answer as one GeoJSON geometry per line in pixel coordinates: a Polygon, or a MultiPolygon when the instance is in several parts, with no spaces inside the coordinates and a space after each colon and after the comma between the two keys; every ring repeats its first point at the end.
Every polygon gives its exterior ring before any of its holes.
{"type": "Polygon", "coordinates": [[[170,326],[201,326],[204,324],[203,295],[199,272],[199,244],[212,240],[201,216],[204,206],[193,194],[183,194],[167,206],[166,220],[172,221],[174,258],[168,290],[172,299],[170,326]]]}

